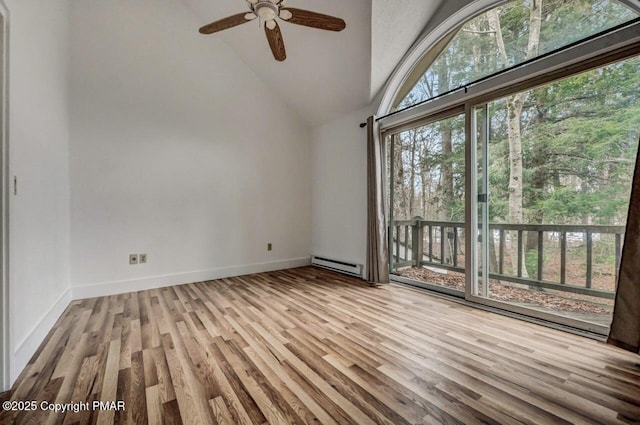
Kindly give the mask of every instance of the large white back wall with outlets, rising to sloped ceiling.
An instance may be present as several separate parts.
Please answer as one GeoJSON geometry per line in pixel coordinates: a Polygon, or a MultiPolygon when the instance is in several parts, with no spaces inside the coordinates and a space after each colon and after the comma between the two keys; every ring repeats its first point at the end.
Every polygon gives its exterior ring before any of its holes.
{"type": "Polygon", "coordinates": [[[198,26],[175,0],[72,2],[74,298],[308,261],[308,129],[198,26]]]}

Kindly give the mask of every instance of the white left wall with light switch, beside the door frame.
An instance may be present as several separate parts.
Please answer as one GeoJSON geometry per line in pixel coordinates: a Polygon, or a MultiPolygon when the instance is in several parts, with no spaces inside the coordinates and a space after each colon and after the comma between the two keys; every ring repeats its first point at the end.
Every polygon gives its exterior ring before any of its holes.
{"type": "Polygon", "coordinates": [[[10,378],[70,301],[68,2],[9,9],[10,378]]]}

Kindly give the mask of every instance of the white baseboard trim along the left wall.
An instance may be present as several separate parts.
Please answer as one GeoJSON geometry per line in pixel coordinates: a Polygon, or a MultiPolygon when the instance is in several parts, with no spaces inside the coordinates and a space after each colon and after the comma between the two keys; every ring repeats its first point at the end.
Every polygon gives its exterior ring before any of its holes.
{"type": "Polygon", "coordinates": [[[44,338],[49,331],[56,324],[64,310],[71,303],[71,288],[60,295],[60,298],[51,306],[44,316],[38,321],[38,323],[27,333],[27,335],[20,341],[15,350],[13,351],[13,358],[11,359],[10,366],[10,379],[11,385],[18,378],[22,370],[25,368],[31,356],[36,352],[44,338]]]}

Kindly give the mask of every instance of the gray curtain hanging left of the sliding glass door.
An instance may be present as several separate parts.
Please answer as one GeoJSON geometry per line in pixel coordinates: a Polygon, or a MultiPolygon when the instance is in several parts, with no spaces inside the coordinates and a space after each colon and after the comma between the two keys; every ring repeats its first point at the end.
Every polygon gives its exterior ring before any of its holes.
{"type": "Polygon", "coordinates": [[[367,280],[389,283],[389,252],[384,214],[384,155],[378,124],[367,120],[367,280]]]}

